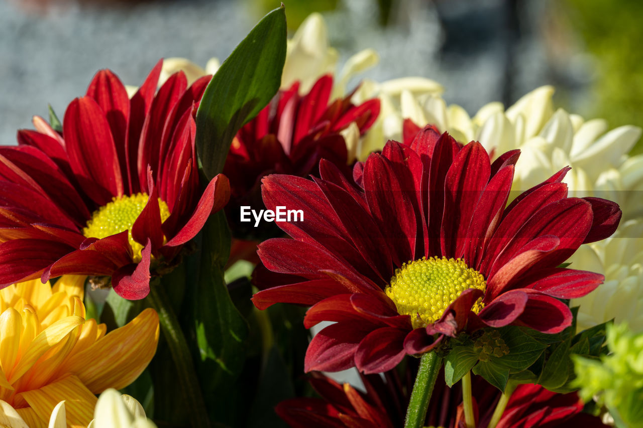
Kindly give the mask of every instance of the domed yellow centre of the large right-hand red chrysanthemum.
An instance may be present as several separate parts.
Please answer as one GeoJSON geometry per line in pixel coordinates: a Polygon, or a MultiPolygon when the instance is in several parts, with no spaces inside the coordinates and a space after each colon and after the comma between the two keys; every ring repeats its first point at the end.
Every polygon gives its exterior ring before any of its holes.
{"type": "MultiPolygon", "coordinates": [[[[396,269],[385,292],[394,301],[397,312],[410,315],[413,328],[420,328],[440,319],[464,290],[484,292],[486,287],[484,276],[462,259],[423,257],[396,269]]],[[[478,299],[472,310],[477,314],[482,307],[478,299]]]]}

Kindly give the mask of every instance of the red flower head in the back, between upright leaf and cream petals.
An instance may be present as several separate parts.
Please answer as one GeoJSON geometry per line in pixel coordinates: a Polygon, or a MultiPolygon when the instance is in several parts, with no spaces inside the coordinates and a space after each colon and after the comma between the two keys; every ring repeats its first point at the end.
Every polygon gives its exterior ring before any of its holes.
{"type": "Polygon", "coordinates": [[[298,90],[299,84],[295,83],[287,91],[279,91],[256,118],[237,132],[231,144],[223,170],[230,177],[232,191],[226,211],[239,237],[275,235],[273,230],[257,232],[252,224],[238,221],[240,206],[264,208],[260,184],[265,175],[318,175],[321,158],[350,175],[349,152],[340,131],[354,122],[363,134],[379,114],[377,99],[356,106],[350,103],[349,95],[329,104],[331,75],[322,76],[303,96],[298,90]]]}

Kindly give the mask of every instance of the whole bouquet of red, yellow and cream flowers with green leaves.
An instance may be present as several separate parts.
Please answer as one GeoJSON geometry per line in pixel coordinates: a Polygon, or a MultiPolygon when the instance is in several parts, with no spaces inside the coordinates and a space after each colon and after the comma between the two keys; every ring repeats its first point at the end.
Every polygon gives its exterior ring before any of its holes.
{"type": "Polygon", "coordinates": [[[641,130],[337,58],[282,6],[0,147],[0,425],[641,425],[641,130]]]}

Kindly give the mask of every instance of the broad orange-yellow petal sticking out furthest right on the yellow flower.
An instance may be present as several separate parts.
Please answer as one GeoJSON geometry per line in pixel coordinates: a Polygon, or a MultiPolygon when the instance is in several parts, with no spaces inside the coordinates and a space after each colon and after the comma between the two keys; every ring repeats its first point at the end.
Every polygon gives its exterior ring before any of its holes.
{"type": "Polygon", "coordinates": [[[107,388],[125,388],[154,357],[158,338],[158,315],[147,308],[127,325],[70,357],[65,370],[75,373],[96,394],[107,388]]]}

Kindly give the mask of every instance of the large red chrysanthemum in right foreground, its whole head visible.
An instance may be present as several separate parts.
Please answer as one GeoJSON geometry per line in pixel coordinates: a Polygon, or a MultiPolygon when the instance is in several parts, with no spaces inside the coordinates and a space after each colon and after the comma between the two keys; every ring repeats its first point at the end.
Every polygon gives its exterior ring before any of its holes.
{"type": "Polygon", "coordinates": [[[269,175],[266,207],[303,210],[304,221],[278,223],[293,239],[259,245],[267,270],[255,283],[272,288],[255,305],[311,305],[307,328],[334,321],[309,344],[306,371],[390,370],[465,328],[560,332],[572,314],[559,299],[603,276],[558,266],[611,235],[620,209],[568,198],[567,168],[505,208],[518,155],[491,164],[480,143],[460,147],[427,127],[410,147],[389,141],[356,165],[355,183],[325,161],[321,179],[269,175]]]}

